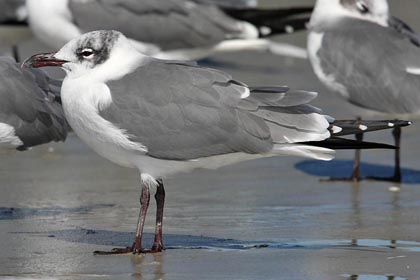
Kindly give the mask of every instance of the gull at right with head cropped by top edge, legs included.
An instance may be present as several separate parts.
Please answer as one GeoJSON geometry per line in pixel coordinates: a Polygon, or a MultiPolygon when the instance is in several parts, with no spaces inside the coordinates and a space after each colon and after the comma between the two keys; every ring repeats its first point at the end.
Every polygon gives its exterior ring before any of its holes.
{"type": "MultiPolygon", "coordinates": [[[[318,0],[308,53],[318,78],[352,104],[393,115],[420,113],[420,37],[389,15],[386,0],[318,0]]],[[[400,128],[393,134],[399,146],[400,128]]],[[[399,150],[389,180],[401,181],[399,150]]]]}

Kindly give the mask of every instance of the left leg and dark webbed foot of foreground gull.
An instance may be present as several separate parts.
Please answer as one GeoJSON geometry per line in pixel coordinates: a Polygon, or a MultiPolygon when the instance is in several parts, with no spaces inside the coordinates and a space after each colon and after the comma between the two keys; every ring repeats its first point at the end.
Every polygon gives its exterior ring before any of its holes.
{"type": "MultiPolygon", "coordinates": [[[[163,188],[163,185],[162,185],[163,188]]],[[[141,196],[140,196],[140,214],[139,219],[137,222],[137,230],[136,230],[136,239],[134,241],[133,246],[126,247],[126,248],[114,248],[110,252],[104,251],[95,251],[95,255],[118,255],[118,254],[140,254],[140,253],[148,253],[151,250],[144,250],[141,246],[142,236],[143,236],[143,227],[144,222],[146,220],[147,209],[149,208],[149,201],[150,201],[150,190],[147,184],[142,182],[142,189],[141,189],[141,196]]],[[[162,206],[162,215],[163,215],[163,206],[162,206]]]]}

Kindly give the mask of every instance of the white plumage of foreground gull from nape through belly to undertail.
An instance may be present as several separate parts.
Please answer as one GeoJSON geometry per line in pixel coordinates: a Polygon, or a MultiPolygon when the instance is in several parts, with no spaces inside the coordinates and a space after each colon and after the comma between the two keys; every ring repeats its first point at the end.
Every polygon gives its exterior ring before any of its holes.
{"type": "MultiPolygon", "coordinates": [[[[66,59],[71,50],[64,47],[55,56],[66,59]]],[[[107,81],[119,78],[142,65],[147,57],[137,52],[128,41],[113,50],[107,63],[98,65],[94,71],[84,67],[64,64],[67,76],[62,85],[61,98],[67,121],[74,132],[93,150],[108,160],[131,168],[153,178],[190,171],[195,168],[217,168],[240,161],[277,155],[298,155],[329,160],[333,151],[304,145],[275,145],[270,154],[234,153],[199,158],[196,160],[162,160],[147,155],[147,147],[129,139],[121,130],[99,115],[101,109],[111,102],[107,81]]],[[[244,95],[247,97],[247,95],[244,95]]],[[[324,138],[329,137],[326,132],[324,138]]]]}

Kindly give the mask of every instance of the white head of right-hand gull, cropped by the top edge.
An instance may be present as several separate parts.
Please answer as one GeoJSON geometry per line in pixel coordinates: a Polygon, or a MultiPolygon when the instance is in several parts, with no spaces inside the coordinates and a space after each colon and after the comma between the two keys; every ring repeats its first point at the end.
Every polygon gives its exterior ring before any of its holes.
{"type": "Polygon", "coordinates": [[[387,0],[317,0],[311,26],[340,17],[352,17],[388,26],[387,0]]]}

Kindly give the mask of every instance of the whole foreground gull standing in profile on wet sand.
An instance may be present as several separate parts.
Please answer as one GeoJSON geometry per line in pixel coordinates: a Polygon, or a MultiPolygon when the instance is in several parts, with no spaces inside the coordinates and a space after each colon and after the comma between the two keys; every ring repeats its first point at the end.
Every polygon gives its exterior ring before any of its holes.
{"type": "MultiPolygon", "coordinates": [[[[285,154],[330,160],[329,147],[365,148],[363,142],[331,138],[360,129],[348,121],[333,122],[309,105],[316,93],[248,87],[195,63],[148,57],[117,31],[84,34],[24,65],[62,67],[61,98],[75,133],[101,156],[140,171],[135,242],[112,253],[163,249],[162,179],[172,174],[285,154]],[[156,189],[156,234],[152,249],[145,250],[141,239],[150,188],[156,189]]],[[[366,126],[388,128],[387,122],[366,126]]]]}

